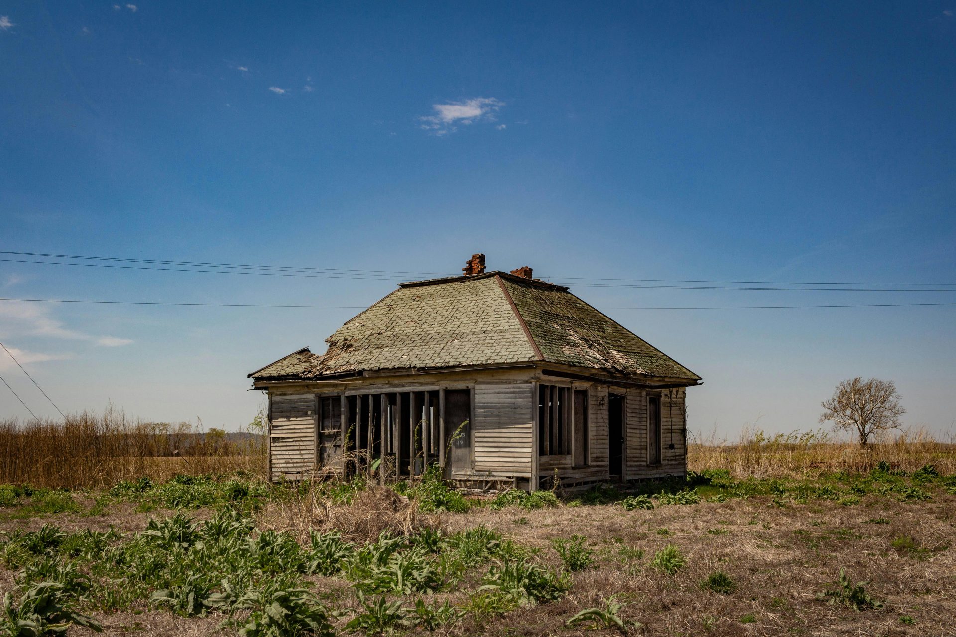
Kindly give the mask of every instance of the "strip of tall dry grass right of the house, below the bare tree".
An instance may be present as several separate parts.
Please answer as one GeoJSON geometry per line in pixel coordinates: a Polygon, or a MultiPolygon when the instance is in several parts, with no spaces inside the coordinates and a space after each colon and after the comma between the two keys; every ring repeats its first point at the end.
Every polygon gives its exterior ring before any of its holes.
{"type": "Polygon", "coordinates": [[[894,469],[915,471],[932,464],[941,473],[956,473],[956,444],[943,442],[924,429],[878,435],[861,448],[823,430],[767,435],[745,427],[736,442],[716,434],[688,435],[690,471],[727,469],[734,478],[807,478],[834,471],[872,469],[880,460],[894,469]]]}

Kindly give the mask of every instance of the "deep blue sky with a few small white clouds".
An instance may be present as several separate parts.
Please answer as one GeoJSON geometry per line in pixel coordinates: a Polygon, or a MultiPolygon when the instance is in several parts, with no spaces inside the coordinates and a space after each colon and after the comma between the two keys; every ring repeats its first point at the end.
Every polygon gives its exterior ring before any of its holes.
{"type": "MultiPolygon", "coordinates": [[[[551,280],[952,284],[954,15],[2,2],[0,249],[409,274],[485,252],[551,280]]],[[[0,296],[361,308],[408,278],[0,261],[0,296]]],[[[956,302],[573,290],[598,308],[956,302]]],[[[0,301],[0,338],[64,410],[235,429],[261,401],[248,372],[322,350],[357,311],[0,301]]],[[[819,401],[862,375],[897,382],[907,424],[956,432],[956,307],[607,313],[704,377],[692,430],[815,428],[819,401]]],[[[9,359],[0,374],[54,414],[9,359]]],[[[0,417],[27,415],[0,387],[0,417]]]]}

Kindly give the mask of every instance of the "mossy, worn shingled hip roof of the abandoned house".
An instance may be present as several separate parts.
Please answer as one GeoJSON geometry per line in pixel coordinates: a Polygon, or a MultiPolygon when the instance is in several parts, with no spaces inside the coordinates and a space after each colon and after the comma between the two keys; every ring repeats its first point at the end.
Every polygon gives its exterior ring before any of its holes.
{"type": "Polygon", "coordinates": [[[381,370],[550,362],[625,375],[700,380],[568,291],[506,272],[401,284],[326,339],[256,380],[381,370]]]}

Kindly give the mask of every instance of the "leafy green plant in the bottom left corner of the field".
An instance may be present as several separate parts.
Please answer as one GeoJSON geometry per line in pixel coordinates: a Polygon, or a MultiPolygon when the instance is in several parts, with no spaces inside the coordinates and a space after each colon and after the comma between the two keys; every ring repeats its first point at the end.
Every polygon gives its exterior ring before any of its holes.
{"type": "Polygon", "coordinates": [[[3,598],[3,618],[0,632],[11,637],[41,637],[65,635],[70,626],[85,626],[99,632],[102,630],[93,618],[79,613],[63,584],[41,582],[29,588],[13,604],[11,593],[3,598]]]}

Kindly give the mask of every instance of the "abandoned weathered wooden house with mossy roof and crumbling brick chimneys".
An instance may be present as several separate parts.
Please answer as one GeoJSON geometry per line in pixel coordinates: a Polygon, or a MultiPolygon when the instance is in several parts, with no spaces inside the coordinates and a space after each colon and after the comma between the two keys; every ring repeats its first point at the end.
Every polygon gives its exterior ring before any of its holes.
{"type": "Polygon", "coordinates": [[[250,373],[269,395],[272,479],[381,458],[463,487],[680,476],[700,377],[532,270],[401,284],[326,340],[250,373]]]}

